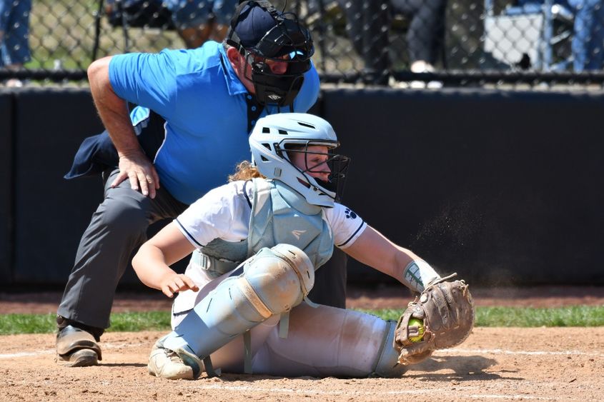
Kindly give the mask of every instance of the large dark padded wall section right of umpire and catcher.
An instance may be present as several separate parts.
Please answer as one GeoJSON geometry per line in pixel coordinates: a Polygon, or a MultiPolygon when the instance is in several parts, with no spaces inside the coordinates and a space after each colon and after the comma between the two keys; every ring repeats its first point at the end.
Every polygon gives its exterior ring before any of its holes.
{"type": "Polygon", "coordinates": [[[604,94],[324,92],[344,203],[473,283],[604,284],[603,111],[604,94]]]}

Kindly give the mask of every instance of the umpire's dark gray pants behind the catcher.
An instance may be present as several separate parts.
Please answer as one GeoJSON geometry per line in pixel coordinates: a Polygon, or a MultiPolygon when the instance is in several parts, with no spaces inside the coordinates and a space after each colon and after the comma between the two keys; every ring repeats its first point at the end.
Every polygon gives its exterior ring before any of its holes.
{"type": "MultiPolygon", "coordinates": [[[[105,199],[81,237],[74,268],[65,287],[59,316],[94,328],[109,328],[115,290],[129,267],[132,252],[147,240],[151,223],[176,218],[187,205],[160,188],[155,199],[130,189],[128,180],[112,189],[117,169],[103,175],[105,199]]],[[[317,271],[309,298],[328,306],[345,307],[346,256],[334,257],[317,271]]]]}

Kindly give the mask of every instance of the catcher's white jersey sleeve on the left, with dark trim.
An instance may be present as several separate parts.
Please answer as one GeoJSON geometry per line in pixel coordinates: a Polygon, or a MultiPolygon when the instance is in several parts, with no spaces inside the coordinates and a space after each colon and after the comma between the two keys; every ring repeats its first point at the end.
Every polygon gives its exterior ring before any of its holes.
{"type": "Polygon", "coordinates": [[[233,184],[209,191],[174,220],[182,234],[197,248],[214,238],[225,241],[247,238],[248,221],[247,201],[233,184]]]}

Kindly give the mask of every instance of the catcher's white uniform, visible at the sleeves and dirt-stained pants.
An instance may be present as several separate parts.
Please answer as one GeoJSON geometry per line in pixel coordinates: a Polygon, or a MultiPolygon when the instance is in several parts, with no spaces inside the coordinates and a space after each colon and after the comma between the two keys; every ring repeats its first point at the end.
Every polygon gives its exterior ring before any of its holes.
{"type": "MultiPolygon", "coordinates": [[[[252,186],[235,181],[209,191],[193,203],[176,222],[184,236],[197,247],[214,240],[242,241],[247,238],[251,213],[252,186]]],[[[336,203],[324,208],[332,228],[335,246],[345,249],[367,228],[367,223],[350,208],[336,203]]],[[[213,278],[189,263],[187,276],[199,291],[184,291],[172,306],[172,328],[187,316],[219,283],[225,273],[213,278]]],[[[252,369],[254,373],[275,376],[367,376],[375,370],[384,345],[387,323],[370,314],[329,306],[311,307],[302,302],[289,313],[287,338],[279,338],[279,316],[269,318],[251,329],[252,369]],[[355,333],[355,336],[344,336],[355,333]]],[[[393,328],[393,327],[392,327],[393,328]]],[[[392,349],[393,350],[393,349],[392,349]]],[[[212,353],[214,366],[229,372],[243,370],[243,341],[237,336],[212,353]]]]}

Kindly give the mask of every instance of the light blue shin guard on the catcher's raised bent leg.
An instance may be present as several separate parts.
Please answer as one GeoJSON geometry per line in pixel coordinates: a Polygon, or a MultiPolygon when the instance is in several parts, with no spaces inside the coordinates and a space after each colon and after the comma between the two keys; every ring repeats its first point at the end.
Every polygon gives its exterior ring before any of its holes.
{"type": "Polygon", "coordinates": [[[164,347],[206,358],[267,318],[297,306],[314,283],[315,268],[304,251],[288,244],[262,248],[244,263],[241,275],[225,279],[202,298],[164,339],[164,347]]]}

